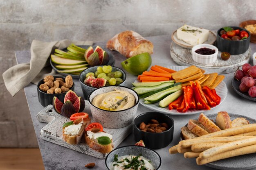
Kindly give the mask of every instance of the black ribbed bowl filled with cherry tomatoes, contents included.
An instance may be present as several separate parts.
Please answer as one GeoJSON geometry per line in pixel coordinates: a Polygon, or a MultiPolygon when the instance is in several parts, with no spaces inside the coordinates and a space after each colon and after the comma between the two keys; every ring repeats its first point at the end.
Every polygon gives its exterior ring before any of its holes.
{"type": "Polygon", "coordinates": [[[249,31],[238,26],[229,27],[232,29],[231,31],[225,31],[224,27],[217,31],[217,48],[221,52],[228,52],[233,55],[243,54],[249,48],[251,38],[249,31]]]}

